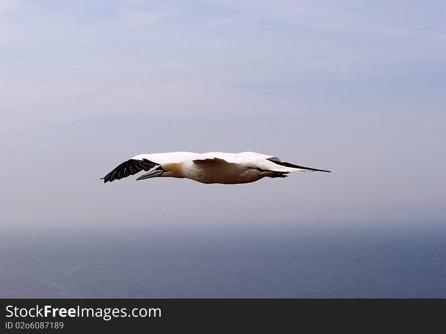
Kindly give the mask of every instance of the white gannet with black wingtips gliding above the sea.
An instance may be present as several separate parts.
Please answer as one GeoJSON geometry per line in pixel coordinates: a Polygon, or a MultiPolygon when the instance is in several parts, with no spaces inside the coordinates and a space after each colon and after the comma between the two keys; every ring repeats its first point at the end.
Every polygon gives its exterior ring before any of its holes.
{"type": "Polygon", "coordinates": [[[249,183],[266,176],[286,177],[289,172],[330,172],[293,165],[282,162],[277,157],[254,152],[170,152],[137,155],[118,165],[101,180],[103,179],[104,183],[112,182],[142,170],[147,173],[139,176],[137,180],[162,176],[222,184],[249,183]]]}

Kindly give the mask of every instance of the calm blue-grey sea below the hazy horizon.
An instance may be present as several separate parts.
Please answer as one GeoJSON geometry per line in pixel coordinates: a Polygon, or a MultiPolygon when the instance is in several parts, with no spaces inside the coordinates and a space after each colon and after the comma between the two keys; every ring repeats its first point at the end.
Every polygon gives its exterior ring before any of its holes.
{"type": "Polygon", "coordinates": [[[446,228],[3,232],[3,298],[446,298],[446,228]]]}

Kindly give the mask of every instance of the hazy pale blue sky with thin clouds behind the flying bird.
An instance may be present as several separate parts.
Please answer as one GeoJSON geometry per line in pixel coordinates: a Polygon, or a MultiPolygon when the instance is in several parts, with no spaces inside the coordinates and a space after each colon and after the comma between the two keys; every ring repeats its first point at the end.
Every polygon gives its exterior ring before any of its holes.
{"type": "Polygon", "coordinates": [[[442,224],[445,10],[0,0],[0,229],[442,224]],[[99,180],[174,151],[253,151],[332,173],[99,180]]]}

